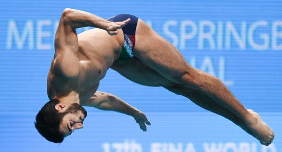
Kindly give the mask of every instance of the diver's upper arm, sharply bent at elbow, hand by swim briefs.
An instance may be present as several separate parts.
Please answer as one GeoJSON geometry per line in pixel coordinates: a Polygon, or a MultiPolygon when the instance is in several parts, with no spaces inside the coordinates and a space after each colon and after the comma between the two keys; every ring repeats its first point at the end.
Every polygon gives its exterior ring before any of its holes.
{"type": "Polygon", "coordinates": [[[113,23],[89,12],[66,8],[55,35],[55,71],[68,77],[76,77],[79,74],[81,65],[77,59],[76,28],[91,26],[107,30],[110,35],[116,35],[117,30],[129,21],[130,19],[113,23]]]}

